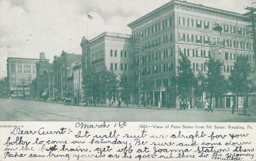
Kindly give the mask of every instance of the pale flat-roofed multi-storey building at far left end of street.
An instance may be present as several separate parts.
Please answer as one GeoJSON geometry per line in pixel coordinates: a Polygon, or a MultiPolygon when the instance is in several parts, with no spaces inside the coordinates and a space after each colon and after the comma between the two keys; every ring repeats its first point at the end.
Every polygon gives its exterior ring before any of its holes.
{"type": "Polygon", "coordinates": [[[36,79],[36,62],[39,59],[7,58],[9,97],[29,97],[30,83],[36,79]]]}

